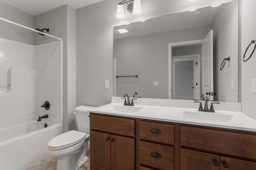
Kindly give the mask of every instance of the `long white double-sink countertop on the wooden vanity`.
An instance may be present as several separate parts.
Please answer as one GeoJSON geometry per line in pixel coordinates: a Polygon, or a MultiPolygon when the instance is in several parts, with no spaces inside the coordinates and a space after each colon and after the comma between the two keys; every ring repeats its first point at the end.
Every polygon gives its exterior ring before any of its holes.
{"type": "MultiPolygon", "coordinates": [[[[247,115],[239,111],[235,112],[235,111],[217,110],[215,111],[215,113],[206,113],[206,112],[198,112],[198,109],[194,109],[194,108],[189,109],[189,108],[180,108],[180,107],[173,107],[173,106],[172,107],[157,106],[158,104],[156,104],[156,106],[136,105],[136,103],[134,102],[135,106],[123,106],[123,103],[120,103],[120,102],[113,103],[113,101],[116,102],[118,100],[116,100],[116,97],[114,97],[114,99],[112,97],[112,103],[108,105],[96,107],[88,111],[93,113],[106,114],[106,115],[116,115],[116,116],[123,116],[123,117],[150,119],[150,120],[166,121],[166,122],[174,122],[174,123],[185,123],[185,124],[202,125],[202,126],[208,126],[208,127],[248,130],[248,131],[256,132],[256,120],[248,117],[247,115]],[[125,109],[125,111],[123,109],[125,109]],[[190,115],[192,115],[192,117],[190,117],[190,115]]],[[[142,101],[144,99],[140,99],[140,100],[141,101],[138,103],[143,103],[142,101]]],[[[152,100],[155,100],[155,99],[152,99],[152,100]]],[[[157,99],[157,100],[158,102],[161,102],[159,100],[166,100],[166,99],[157,99]]],[[[122,102],[123,100],[120,100],[120,101],[122,102]]],[[[172,102],[174,100],[169,100],[169,101],[172,102]]],[[[179,101],[179,102],[184,102],[186,104],[186,101],[179,101]]],[[[191,103],[191,101],[189,102],[191,103]]],[[[222,104],[223,103],[220,103],[219,105],[222,105],[222,104]]],[[[228,110],[227,107],[232,107],[233,104],[228,106],[227,103],[224,103],[223,105],[225,105],[225,110],[228,110]]],[[[197,103],[196,106],[198,107],[199,104],[197,103]]],[[[233,108],[230,108],[230,110],[232,109],[233,108]]]]}

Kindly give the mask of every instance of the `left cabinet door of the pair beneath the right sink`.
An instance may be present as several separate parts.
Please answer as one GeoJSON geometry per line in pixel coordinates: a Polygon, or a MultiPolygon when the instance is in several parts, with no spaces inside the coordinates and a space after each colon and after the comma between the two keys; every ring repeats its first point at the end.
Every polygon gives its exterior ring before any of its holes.
{"type": "Polygon", "coordinates": [[[194,150],[180,150],[181,170],[220,170],[220,156],[197,152],[194,150]]]}

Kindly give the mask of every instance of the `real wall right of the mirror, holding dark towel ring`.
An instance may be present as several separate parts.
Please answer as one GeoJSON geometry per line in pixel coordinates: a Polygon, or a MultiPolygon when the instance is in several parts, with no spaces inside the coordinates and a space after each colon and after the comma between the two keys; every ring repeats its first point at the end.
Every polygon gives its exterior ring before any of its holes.
{"type": "MultiPolygon", "coordinates": [[[[251,40],[256,40],[256,1],[242,0],[241,1],[241,56],[244,56],[244,51],[251,40]]],[[[252,48],[248,51],[250,53],[252,48]]],[[[248,55],[247,55],[248,56],[248,55]]],[[[242,59],[241,59],[242,60],[242,59]]],[[[256,93],[251,92],[251,79],[256,78],[256,53],[252,55],[247,62],[241,61],[241,89],[242,89],[242,112],[256,119],[255,103],[256,93]]]]}

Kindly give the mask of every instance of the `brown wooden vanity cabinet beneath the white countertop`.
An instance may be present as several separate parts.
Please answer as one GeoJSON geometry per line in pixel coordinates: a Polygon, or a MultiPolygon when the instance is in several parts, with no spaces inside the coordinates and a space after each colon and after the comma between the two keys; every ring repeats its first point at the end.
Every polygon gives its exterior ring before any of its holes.
{"type": "Polygon", "coordinates": [[[91,170],[256,170],[256,132],[90,113],[91,170]]]}

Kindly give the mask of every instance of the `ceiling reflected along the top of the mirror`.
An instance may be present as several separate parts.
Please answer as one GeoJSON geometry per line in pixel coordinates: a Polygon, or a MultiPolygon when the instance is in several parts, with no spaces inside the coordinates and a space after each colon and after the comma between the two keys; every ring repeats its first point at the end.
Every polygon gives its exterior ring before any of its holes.
{"type": "Polygon", "coordinates": [[[216,11],[220,7],[206,7],[194,12],[181,12],[159,18],[153,18],[146,20],[145,22],[134,22],[129,25],[116,26],[114,27],[114,40],[210,25],[216,11]],[[128,32],[120,34],[117,30],[123,28],[126,28],[128,32]]]}

